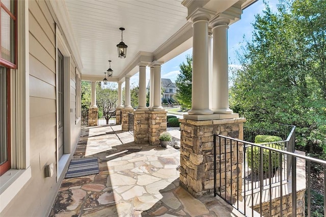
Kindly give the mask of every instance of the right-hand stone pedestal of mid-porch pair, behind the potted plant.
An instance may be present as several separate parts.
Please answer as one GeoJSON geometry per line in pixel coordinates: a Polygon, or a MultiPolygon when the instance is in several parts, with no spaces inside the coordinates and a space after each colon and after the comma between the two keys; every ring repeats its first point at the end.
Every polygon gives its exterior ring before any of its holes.
{"type": "Polygon", "coordinates": [[[149,111],[148,123],[148,142],[150,145],[158,145],[159,135],[167,131],[167,112],[149,111]]]}

